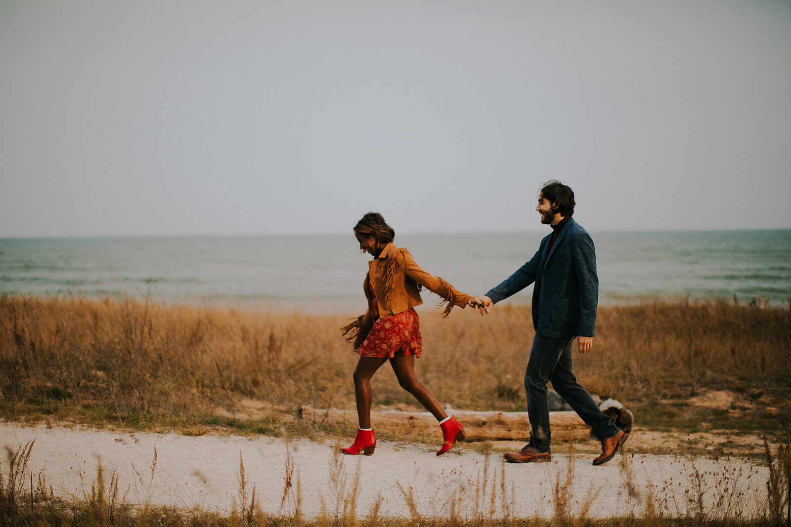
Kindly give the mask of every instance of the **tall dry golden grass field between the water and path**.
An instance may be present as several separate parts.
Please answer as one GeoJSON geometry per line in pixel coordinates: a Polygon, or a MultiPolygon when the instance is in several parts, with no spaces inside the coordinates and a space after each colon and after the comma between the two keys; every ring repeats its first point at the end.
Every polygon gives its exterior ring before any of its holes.
{"type": "MultiPolygon", "coordinates": [[[[525,409],[529,307],[497,306],[486,318],[454,310],[447,320],[420,312],[418,378],[442,404],[525,409]]],[[[354,408],[357,355],[339,332],[346,322],[148,299],[2,297],[2,416],[278,433],[292,422],[283,412],[299,405],[354,408]],[[271,411],[255,423],[234,420],[243,399],[271,411]]],[[[600,307],[594,350],[575,355],[575,372],[591,393],[634,409],[643,425],[691,429],[705,420],[779,433],[791,423],[789,349],[785,309],[600,307]],[[685,401],[701,390],[733,390],[750,404],[694,414],[685,401]]],[[[373,390],[375,404],[417,405],[388,367],[377,372],[373,390]]]]}

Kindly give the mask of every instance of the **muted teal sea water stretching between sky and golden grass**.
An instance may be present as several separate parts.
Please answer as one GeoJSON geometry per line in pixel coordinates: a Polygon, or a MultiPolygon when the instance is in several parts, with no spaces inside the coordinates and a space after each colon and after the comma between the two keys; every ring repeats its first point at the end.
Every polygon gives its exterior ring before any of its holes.
{"type": "MultiPolygon", "coordinates": [[[[399,235],[428,272],[483,294],[535,253],[545,233],[399,235]]],[[[791,298],[791,230],[593,232],[600,303],[791,298]]],[[[367,254],[352,235],[0,239],[0,294],[152,295],[309,311],[364,305],[367,254]]],[[[512,297],[530,301],[532,288],[512,297]]],[[[428,303],[428,302],[427,302],[428,303]]]]}

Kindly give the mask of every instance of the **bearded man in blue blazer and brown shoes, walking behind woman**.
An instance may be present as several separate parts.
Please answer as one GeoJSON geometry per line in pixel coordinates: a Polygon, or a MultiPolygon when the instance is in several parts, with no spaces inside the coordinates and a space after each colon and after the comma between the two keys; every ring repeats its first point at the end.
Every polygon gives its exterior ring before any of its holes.
{"type": "Polygon", "coordinates": [[[571,217],[574,193],[568,186],[558,181],[544,183],[536,211],[541,215],[541,223],[549,225],[552,233],[541,240],[539,250],[530,262],[491,288],[486,295],[475,296],[469,302],[483,315],[500,300],[534,282],[536,284],[532,299],[536,337],[533,338],[528,367],[524,372],[532,429],[530,442],[519,452],[505,454],[505,461],[550,461],[547,382],[551,381],[554,390],[600,439],[602,453],[593,460],[593,465],[602,465],[615,456],[628,434],[600,411],[571,372],[574,338],[577,338],[580,353],[589,352],[593,347],[593,325],[599,297],[593,241],[571,217]]]}

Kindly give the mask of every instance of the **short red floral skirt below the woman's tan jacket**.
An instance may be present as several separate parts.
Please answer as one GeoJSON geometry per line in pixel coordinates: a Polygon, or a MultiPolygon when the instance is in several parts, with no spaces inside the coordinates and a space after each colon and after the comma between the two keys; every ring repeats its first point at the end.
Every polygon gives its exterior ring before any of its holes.
{"type": "Polygon", "coordinates": [[[384,357],[414,355],[419,357],[423,351],[420,337],[420,320],[414,309],[401,311],[386,318],[379,318],[377,299],[371,303],[373,327],[368,337],[357,348],[361,357],[384,357]]]}

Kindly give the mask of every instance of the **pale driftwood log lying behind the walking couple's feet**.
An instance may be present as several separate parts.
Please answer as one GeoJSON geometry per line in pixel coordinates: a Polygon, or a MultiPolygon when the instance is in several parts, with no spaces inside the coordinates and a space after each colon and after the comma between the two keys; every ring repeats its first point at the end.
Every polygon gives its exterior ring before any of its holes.
{"type": "MultiPolygon", "coordinates": [[[[450,413],[450,412],[448,412],[450,413]]],[[[453,410],[453,416],[464,426],[470,441],[513,440],[528,441],[530,420],[528,412],[465,412],[453,410]]],[[[337,408],[319,409],[303,406],[300,416],[308,421],[335,421],[357,424],[356,410],[337,408]]],[[[371,412],[374,428],[392,429],[418,433],[439,433],[437,420],[430,412],[401,412],[380,410],[371,412]]],[[[550,412],[553,441],[588,439],[591,433],[575,412],[550,412]]]]}

